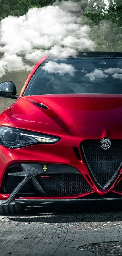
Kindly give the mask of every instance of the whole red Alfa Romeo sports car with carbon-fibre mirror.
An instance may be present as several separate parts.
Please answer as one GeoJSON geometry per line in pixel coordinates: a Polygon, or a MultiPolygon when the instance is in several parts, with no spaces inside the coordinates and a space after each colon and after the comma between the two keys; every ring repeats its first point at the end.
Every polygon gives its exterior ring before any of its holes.
{"type": "Polygon", "coordinates": [[[0,213],[122,199],[122,53],[46,55],[0,115],[0,213]]]}

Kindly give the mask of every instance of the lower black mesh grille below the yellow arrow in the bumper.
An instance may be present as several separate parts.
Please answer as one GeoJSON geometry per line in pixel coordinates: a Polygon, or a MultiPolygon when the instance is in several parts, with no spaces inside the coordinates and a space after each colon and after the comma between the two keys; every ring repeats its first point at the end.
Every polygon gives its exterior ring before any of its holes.
{"type": "Polygon", "coordinates": [[[36,176],[47,195],[78,195],[92,191],[81,174],[52,174],[52,178],[36,176]]]}

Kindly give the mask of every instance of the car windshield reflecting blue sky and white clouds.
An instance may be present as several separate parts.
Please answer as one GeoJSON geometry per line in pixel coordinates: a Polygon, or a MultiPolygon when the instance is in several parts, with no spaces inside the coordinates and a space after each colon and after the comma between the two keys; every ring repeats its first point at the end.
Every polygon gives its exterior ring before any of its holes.
{"type": "Polygon", "coordinates": [[[122,93],[122,60],[60,59],[44,62],[23,96],[67,93],[122,93]]]}

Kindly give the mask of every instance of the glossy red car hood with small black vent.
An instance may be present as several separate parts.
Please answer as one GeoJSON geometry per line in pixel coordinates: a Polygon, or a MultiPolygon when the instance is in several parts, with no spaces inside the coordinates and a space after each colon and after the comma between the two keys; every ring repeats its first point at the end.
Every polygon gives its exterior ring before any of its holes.
{"type": "Polygon", "coordinates": [[[12,104],[11,113],[19,120],[62,126],[122,124],[122,95],[24,96],[12,104]],[[43,103],[47,109],[35,103],[43,103]]]}

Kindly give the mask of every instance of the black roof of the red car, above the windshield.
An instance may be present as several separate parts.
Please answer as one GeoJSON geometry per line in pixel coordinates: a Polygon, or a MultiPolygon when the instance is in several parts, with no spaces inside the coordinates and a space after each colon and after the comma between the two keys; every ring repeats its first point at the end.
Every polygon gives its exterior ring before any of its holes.
{"type": "Polygon", "coordinates": [[[81,58],[120,58],[122,59],[122,52],[77,52],[77,55],[68,56],[63,58],[61,56],[55,56],[52,54],[48,55],[47,60],[58,60],[58,59],[81,59],[81,58]]]}

